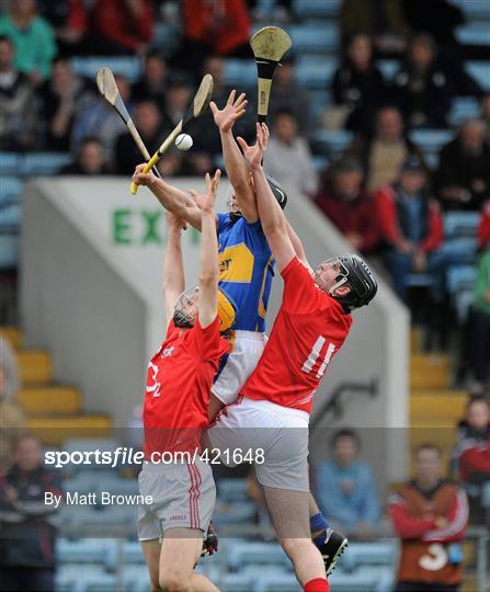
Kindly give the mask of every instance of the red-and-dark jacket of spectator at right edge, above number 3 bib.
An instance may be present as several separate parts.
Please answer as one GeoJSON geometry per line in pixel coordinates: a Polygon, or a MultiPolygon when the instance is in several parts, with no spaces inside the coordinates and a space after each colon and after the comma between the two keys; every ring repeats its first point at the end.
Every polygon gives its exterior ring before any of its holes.
{"type": "Polygon", "coordinates": [[[461,421],[453,458],[458,460],[461,480],[490,480],[490,424],[477,431],[461,421]]]}

